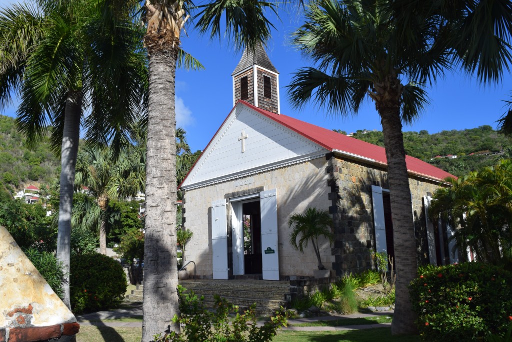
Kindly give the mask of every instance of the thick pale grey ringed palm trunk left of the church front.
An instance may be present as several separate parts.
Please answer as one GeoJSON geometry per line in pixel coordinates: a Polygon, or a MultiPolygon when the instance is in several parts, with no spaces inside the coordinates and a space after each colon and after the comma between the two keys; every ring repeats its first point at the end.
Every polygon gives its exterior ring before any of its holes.
{"type": "Polygon", "coordinates": [[[176,115],[175,76],[179,41],[174,48],[148,48],[149,108],[146,152],[146,211],[142,341],[179,314],[176,264],[176,115]],[[155,49],[156,50],[156,49],[155,49]]]}

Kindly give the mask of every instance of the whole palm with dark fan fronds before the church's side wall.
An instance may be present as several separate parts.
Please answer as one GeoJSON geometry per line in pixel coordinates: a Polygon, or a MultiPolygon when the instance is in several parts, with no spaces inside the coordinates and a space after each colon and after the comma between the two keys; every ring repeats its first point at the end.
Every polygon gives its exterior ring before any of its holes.
{"type": "Polygon", "coordinates": [[[417,274],[409,176],[402,122],[428,104],[426,83],[463,68],[497,82],[506,64],[512,28],[509,1],[319,0],[293,42],[315,67],[298,70],[289,86],[292,103],[309,100],[348,116],[364,100],[380,116],[391,192],[396,263],[393,334],[414,332],[408,285],[417,274]]]}

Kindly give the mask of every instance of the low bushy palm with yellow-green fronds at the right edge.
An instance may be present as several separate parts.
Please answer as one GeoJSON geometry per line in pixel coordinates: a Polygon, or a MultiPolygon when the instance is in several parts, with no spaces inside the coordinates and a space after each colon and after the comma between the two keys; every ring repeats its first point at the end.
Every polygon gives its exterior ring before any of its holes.
{"type": "MultiPolygon", "coordinates": [[[[512,235],[512,160],[446,179],[451,187],[436,190],[429,214],[441,217],[455,232],[457,247],[471,248],[479,261],[510,263],[512,235]]],[[[510,266],[510,265],[509,265],[510,266]]]]}

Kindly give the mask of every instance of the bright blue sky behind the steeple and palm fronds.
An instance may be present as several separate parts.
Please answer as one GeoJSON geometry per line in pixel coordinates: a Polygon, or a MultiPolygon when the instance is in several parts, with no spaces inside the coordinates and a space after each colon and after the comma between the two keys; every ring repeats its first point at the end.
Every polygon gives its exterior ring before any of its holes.
{"type": "MultiPolygon", "coordinates": [[[[7,3],[9,1],[0,0],[2,7],[7,3]]],[[[314,107],[299,111],[290,106],[286,86],[292,73],[310,63],[289,43],[290,34],[301,24],[300,18],[296,13],[284,11],[280,11],[280,15],[282,21],[274,23],[276,30],[268,42],[267,53],[280,72],[281,112],[317,126],[349,133],[358,129],[381,130],[378,114],[370,101],[357,115],[346,118],[326,114],[314,107]]],[[[242,51],[235,51],[219,39],[210,41],[208,37],[198,37],[192,27],[187,33],[188,37],[182,38],[183,49],[206,67],[202,71],[178,70],[176,75],[177,123],[187,131],[188,143],[195,151],[206,147],[233,106],[231,73],[242,51]]],[[[505,112],[503,100],[511,91],[512,78],[508,72],[502,84],[486,87],[465,74],[447,74],[428,89],[431,105],[412,126],[404,126],[403,130],[435,133],[482,125],[496,128],[496,120],[505,112]]],[[[2,114],[13,116],[14,113],[15,106],[12,106],[2,114]]]]}

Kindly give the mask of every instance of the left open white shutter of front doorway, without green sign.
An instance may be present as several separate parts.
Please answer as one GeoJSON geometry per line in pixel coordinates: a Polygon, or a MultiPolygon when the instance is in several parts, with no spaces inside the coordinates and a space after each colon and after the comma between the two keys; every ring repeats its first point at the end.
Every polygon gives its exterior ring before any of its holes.
{"type": "Polygon", "coordinates": [[[227,279],[226,200],[211,203],[211,258],[214,279],[227,279]]]}

